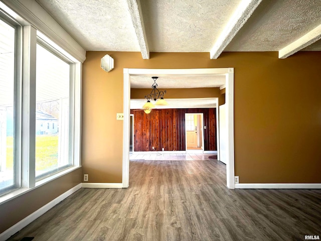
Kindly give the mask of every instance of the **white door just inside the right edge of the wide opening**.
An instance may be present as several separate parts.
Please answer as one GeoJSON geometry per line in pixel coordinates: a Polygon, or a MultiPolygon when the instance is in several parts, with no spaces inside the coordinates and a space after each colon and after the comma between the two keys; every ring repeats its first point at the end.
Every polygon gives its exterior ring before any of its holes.
{"type": "Polygon", "coordinates": [[[226,105],[219,106],[219,130],[220,130],[220,161],[227,163],[227,118],[226,105]]]}

